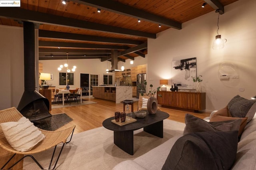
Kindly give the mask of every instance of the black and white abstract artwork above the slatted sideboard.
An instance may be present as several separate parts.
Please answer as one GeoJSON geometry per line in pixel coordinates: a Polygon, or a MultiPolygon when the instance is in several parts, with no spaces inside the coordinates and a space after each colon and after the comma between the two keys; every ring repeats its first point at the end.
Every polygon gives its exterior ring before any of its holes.
{"type": "Polygon", "coordinates": [[[196,57],[172,61],[172,85],[178,89],[196,89],[192,77],[196,77],[196,57]]]}

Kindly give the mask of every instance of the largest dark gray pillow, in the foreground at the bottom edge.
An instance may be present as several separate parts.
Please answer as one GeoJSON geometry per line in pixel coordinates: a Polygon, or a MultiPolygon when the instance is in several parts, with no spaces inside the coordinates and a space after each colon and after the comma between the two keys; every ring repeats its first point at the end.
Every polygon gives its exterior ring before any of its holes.
{"type": "Polygon", "coordinates": [[[162,170],[229,170],[234,164],[238,131],[195,132],[174,143],[162,170]]]}

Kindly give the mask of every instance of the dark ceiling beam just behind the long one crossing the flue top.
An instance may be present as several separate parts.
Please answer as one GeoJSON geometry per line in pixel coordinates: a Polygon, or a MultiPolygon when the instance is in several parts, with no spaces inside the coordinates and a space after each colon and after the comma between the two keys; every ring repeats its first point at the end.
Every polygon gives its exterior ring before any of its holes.
{"type": "Polygon", "coordinates": [[[139,45],[143,43],[137,40],[88,36],[84,34],[72,34],[72,33],[47,31],[47,30],[39,30],[38,36],[44,37],[44,38],[60,38],[60,39],[67,39],[67,40],[83,40],[83,41],[90,41],[90,42],[121,43],[121,44],[131,44],[131,45],[133,44],[139,45]]]}

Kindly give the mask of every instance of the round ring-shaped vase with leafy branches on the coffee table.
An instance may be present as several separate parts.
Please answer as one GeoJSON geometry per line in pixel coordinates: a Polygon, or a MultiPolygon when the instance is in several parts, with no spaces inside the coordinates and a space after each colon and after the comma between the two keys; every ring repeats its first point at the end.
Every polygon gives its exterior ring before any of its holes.
{"type": "MultiPolygon", "coordinates": [[[[144,82],[145,85],[147,85],[147,82],[144,82]]],[[[150,91],[148,93],[146,93],[147,96],[149,96],[150,98],[148,99],[148,103],[147,103],[147,109],[148,109],[148,113],[149,114],[155,114],[157,109],[158,109],[158,101],[157,99],[154,97],[157,91],[160,91],[160,87],[157,87],[156,89],[152,90],[153,85],[150,85],[150,91]]],[[[141,93],[142,96],[144,96],[144,93],[141,93]]],[[[162,95],[158,95],[158,96],[162,96],[162,95]]]]}

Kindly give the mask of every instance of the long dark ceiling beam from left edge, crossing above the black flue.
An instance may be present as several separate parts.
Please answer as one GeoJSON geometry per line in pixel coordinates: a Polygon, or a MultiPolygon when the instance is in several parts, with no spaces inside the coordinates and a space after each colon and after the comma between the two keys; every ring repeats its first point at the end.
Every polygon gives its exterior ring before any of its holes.
{"type": "Polygon", "coordinates": [[[77,20],[74,18],[66,18],[66,17],[51,15],[51,14],[42,13],[42,12],[25,10],[22,8],[8,8],[8,7],[1,8],[0,16],[4,18],[12,18],[14,20],[35,22],[39,24],[52,24],[56,26],[68,26],[71,28],[97,30],[101,32],[124,34],[129,36],[138,36],[138,37],[154,38],[154,39],[156,38],[156,34],[152,34],[148,32],[108,26],[108,25],[98,24],[94,22],[77,20]]]}

